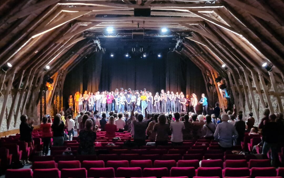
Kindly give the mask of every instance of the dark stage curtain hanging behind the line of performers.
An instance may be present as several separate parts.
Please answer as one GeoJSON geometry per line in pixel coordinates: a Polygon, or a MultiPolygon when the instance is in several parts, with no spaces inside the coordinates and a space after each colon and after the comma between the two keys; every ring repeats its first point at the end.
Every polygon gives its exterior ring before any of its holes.
{"type": "Polygon", "coordinates": [[[174,93],[195,93],[200,100],[206,93],[201,70],[191,61],[184,60],[174,52],[164,52],[162,57],[149,54],[146,58],[124,54],[110,57],[109,53],[96,52],[81,61],[66,76],[63,88],[64,106],[68,107],[69,94],[76,91],[114,91],[131,88],[132,90],[155,92],[170,90],[174,93]]]}

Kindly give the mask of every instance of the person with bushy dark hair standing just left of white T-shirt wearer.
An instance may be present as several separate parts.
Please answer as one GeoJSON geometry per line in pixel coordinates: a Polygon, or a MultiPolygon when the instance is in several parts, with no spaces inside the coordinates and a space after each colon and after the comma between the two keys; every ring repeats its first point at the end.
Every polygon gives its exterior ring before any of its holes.
{"type": "Polygon", "coordinates": [[[166,123],[167,117],[165,114],[158,116],[158,123],[154,126],[154,132],[156,132],[155,145],[168,145],[168,133],[170,132],[170,126],[166,123]]]}

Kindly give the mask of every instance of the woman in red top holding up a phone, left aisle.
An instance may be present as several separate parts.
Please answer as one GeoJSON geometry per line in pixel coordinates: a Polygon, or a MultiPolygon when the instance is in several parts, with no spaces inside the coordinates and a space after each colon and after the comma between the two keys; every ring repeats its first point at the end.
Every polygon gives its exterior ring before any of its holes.
{"type": "Polygon", "coordinates": [[[52,125],[52,120],[51,123],[47,123],[47,117],[42,118],[42,124],[40,125],[42,129],[42,141],[43,141],[42,155],[45,156],[47,156],[48,154],[49,145],[52,137],[51,125],[52,125]]]}

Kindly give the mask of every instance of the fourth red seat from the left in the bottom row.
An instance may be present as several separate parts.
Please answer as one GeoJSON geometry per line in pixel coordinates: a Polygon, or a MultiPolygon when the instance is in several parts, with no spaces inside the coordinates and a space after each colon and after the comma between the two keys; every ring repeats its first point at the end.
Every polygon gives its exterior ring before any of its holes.
{"type": "Polygon", "coordinates": [[[105,167],[105,168],[90,168],[88,170],[88,177],[100,178],[112,178],[114,176],[114,169],[112,167],[105,167]]]}

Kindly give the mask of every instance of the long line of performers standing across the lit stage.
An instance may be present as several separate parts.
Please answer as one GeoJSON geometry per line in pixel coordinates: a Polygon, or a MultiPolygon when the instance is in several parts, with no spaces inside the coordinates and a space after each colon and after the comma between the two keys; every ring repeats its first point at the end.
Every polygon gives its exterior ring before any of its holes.
{"type": "Polygon", "coordinates": [[[107,111],[117,110],[118,112],[130,112],[132,109],[132,104],[136,103],[135,111],[139,113],[144,113],[145,108],[147,112],[152,113],[174,113],[174,112],[195,112],[196,106],[202,104],[203,114],[207,114],[207,98],[204,94],[201,95],[201,100],[198,102],[197,96],[192,93],[191,97],[189,95],[184,96],[183,92],[170,92],[166,93],[161,90],[161,93],[156,92],[152,95],[151,92],[146,91],[146,89],[132,91],[131,89],[124,90],[120,88],[115,89],[115,91],[103,91],[103,92],[87,92],[84,94],[77,91],[74,95],[69,96],[68,99],[69,106],[75,103],[75,112],[84,111],[99,111],[101,113],[106,113],[107,111]],[[74,102],[75,101],[75,102],[74,102]],[[161,105],[161,111],[160,111],[161,105]]]}

